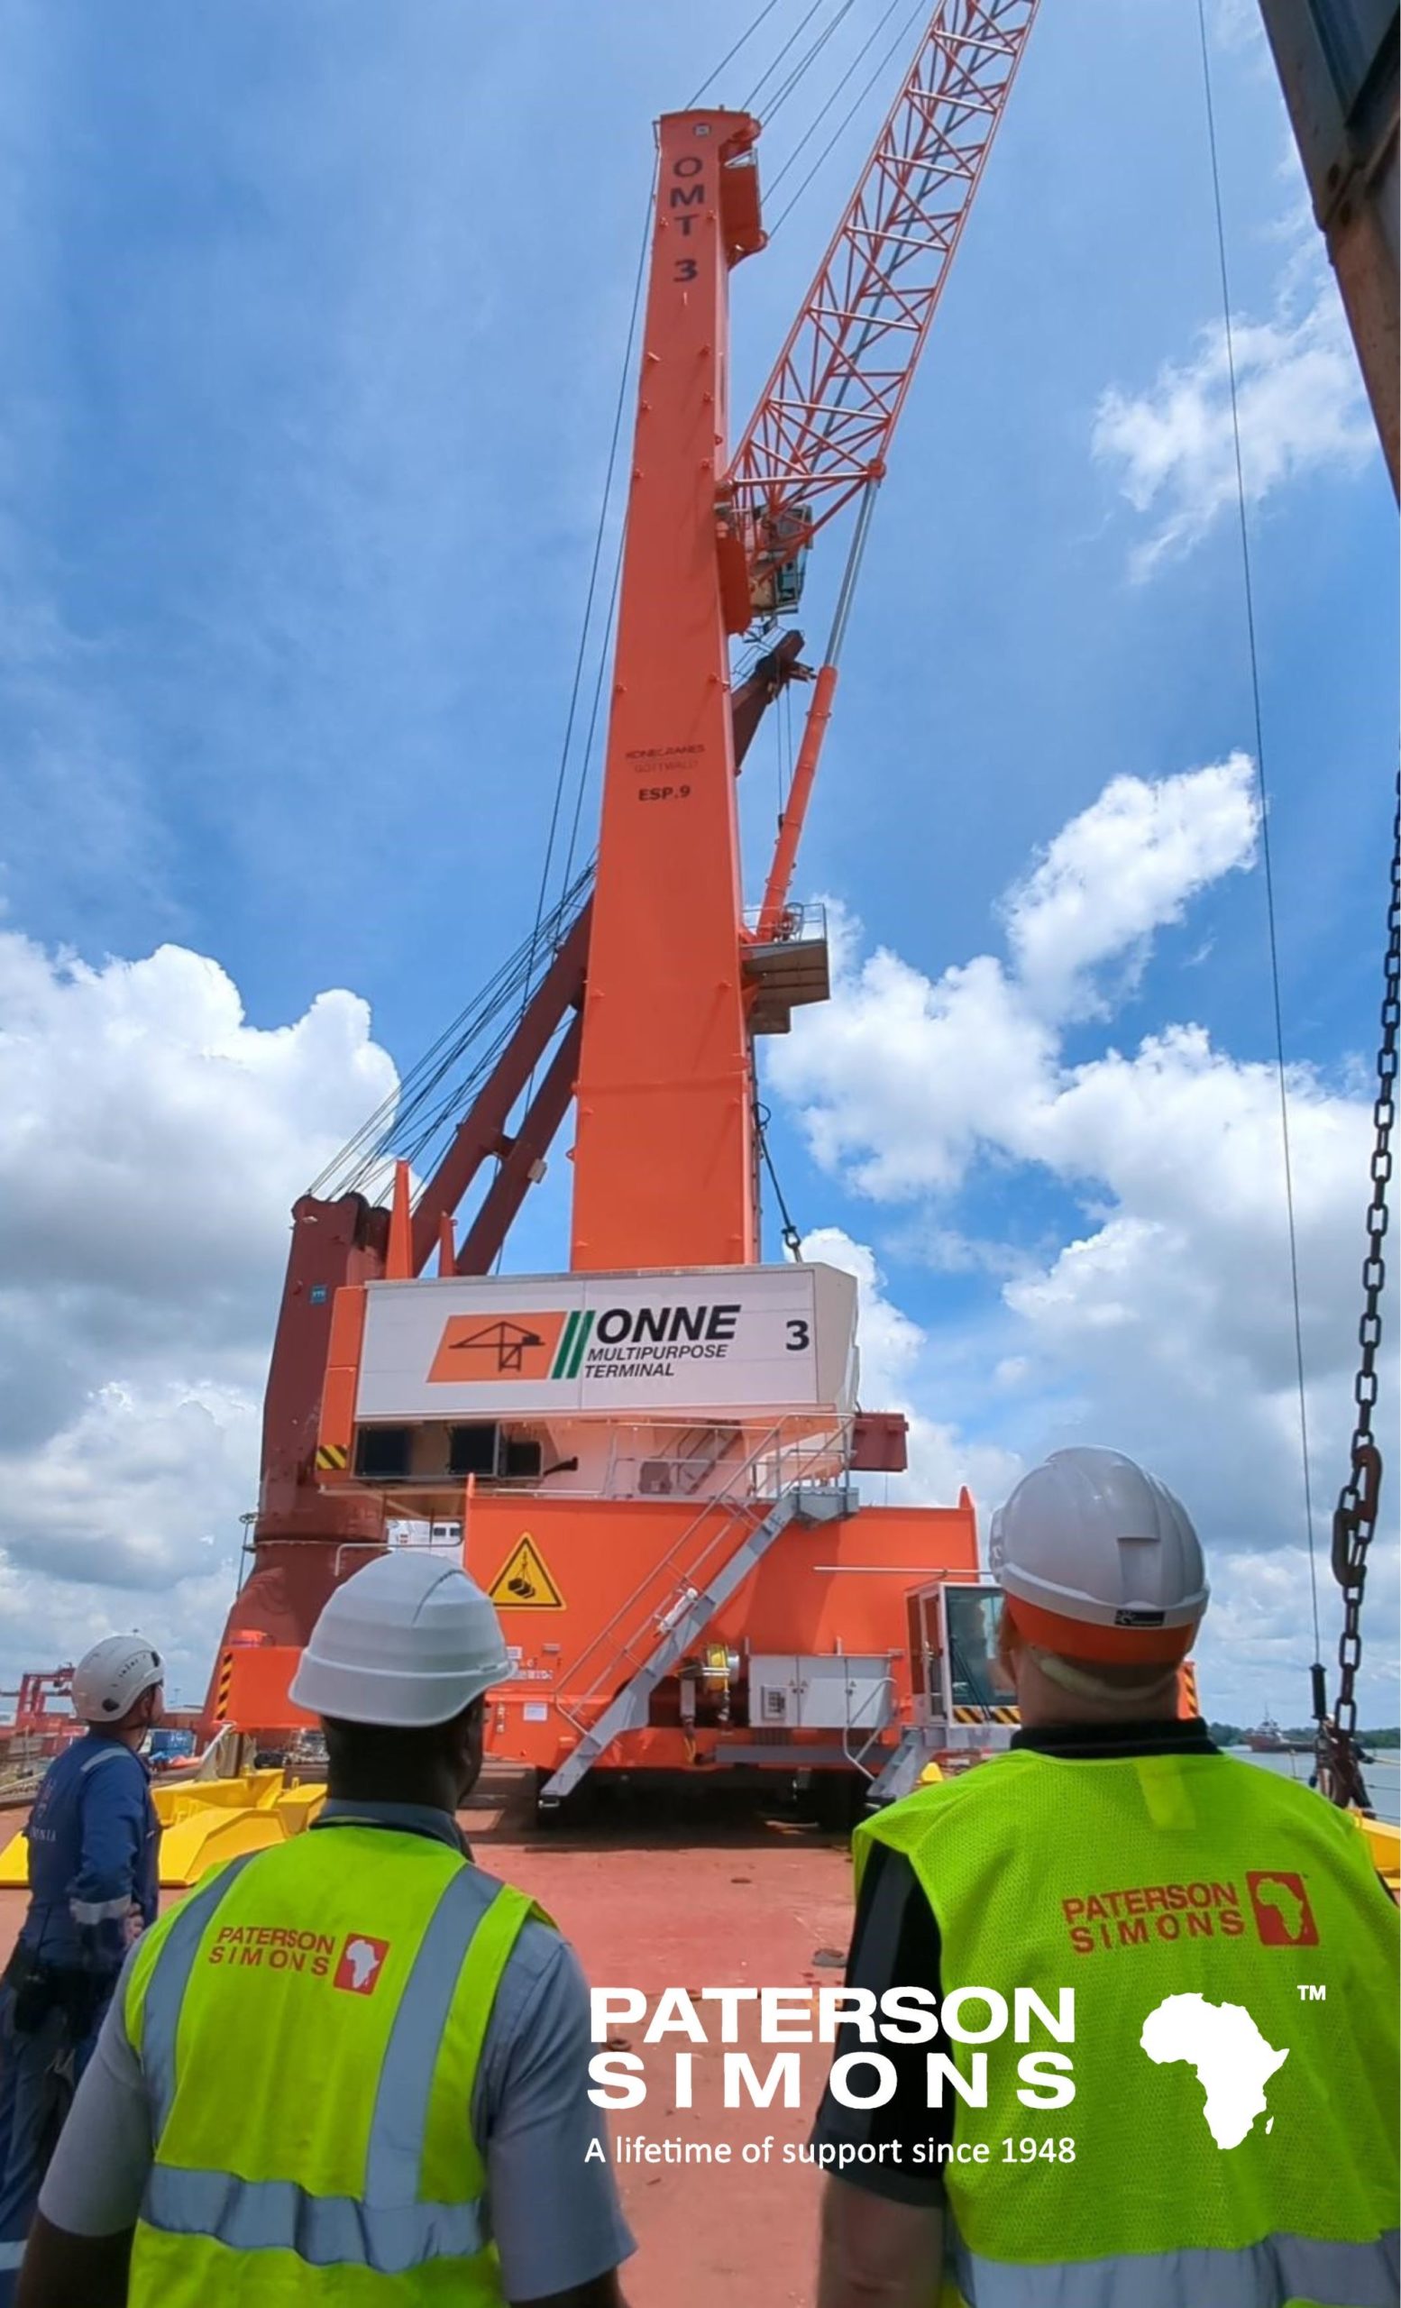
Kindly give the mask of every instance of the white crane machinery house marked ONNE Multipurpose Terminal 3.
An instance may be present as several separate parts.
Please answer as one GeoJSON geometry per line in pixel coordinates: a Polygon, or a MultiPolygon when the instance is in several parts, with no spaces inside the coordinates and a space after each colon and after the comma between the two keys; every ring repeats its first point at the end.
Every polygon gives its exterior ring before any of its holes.
{"type": "Polygon", "coordinates": [[[381,1281],[344,1332],[328,1475],[402,1484],[429,1521],[466,1477],[540,1503],[716,1498],[759,1447],[801,1447],[810,1479],[847,1466],[856,1283],[836,1267],[381,1281]]]}

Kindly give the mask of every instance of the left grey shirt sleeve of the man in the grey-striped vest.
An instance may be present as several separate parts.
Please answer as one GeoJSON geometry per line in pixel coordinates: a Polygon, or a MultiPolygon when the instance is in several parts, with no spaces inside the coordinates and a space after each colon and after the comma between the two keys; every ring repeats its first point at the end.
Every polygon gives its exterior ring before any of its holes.
{"type": "Polygon", "coordinates": [[[122,2015],[125,1980],[127,1971],[39,2190],[44,2218],[72,2236],[115,2236],[134,2227],[152,2163],[150,2105],[122,2015]]]}

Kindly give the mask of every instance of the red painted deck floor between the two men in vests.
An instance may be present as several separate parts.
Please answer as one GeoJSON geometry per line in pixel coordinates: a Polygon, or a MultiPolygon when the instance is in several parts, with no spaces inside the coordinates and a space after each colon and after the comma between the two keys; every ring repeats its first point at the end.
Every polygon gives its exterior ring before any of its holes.
{"type": "MultiPolygon", "coordinates": [[[[702,1791],[697,1789],[697,1796],[702,1791]]],[[[462,1814],[482,1867],[529,1890],[572,1939],[595,1987],[831,1987],[849,1932],[845,1839],[764,1809],[752,1793],[706,1789],[706,1803],[667,1823],[655,1793],[605,1809],[598,1823],[538,1833],[526,1779],[494,1773],[462,1814]],[[625,1807],[623,1807],[625,1803],[625,1807]]],[[[21,1823],[5,1814],[5,1826],[21,1823]]],[[[23,1895],[0,1890],[0,1962],[23,1916],[23,1895]]],[[[646,2105],[612,2116],[614,2142],[732,2142],[734,2163],[625,2165],[619,2183],[637,2257],[625,2271],[628,2308],[799,2308],[812,2299],[817,2181],[782,2165],[785,2142],[806,2137],[826,2075],[819,2045],[801,2050],[801,2110],[725,2110],[722,2047],[695,2047],[695,2107],[676,2110],[674,2054],[683,2036],[644,2045],[642,2029],[616,2040],[646,2061],[646,2105]],[[769,2165],[739,2160],[746,2140],[773,2137],[769,2165]]],[[[734,2050],[759,2075],[776,2047],[757,2040],[755,2006],[741,2006],[734,2050]]]]}

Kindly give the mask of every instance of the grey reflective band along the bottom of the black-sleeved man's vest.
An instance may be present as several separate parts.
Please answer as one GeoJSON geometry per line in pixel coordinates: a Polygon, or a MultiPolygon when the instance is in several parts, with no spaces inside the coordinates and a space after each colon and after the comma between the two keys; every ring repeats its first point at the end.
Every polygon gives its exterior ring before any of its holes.
{"type": "Polygon", "coordinates": [[[1401,2236],[1378,2243],[1316,2243],[1267,2236],[1239,2253],[1133,2253],[1073,2266],[1013,2266],[953,2246],[951,2273],[967,2308],[1396,2308],[1401,2236]]]}

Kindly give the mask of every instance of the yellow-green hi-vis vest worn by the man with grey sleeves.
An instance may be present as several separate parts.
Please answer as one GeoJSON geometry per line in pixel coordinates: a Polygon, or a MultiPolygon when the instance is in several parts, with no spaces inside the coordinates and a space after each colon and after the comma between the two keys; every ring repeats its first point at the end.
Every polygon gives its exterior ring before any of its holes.
{"type": "Polygon", "coordinates": [[[448,1844],[337,1826],[162,1916],[125,1996],[155,2137],[129,2308],[501,2308],[469,2110],[531,1913],[448,1844]]]}

